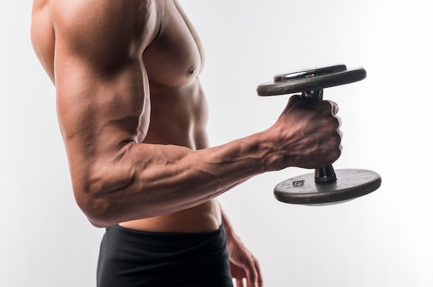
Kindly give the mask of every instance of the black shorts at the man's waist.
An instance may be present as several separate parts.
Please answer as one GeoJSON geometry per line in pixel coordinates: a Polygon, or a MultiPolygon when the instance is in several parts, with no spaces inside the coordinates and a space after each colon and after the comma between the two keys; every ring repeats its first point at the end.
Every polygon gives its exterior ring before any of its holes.
{"type": "Polygon", "coordinates": [[[111,226],[102,238],[99,287],[232,287],[224,227],[142,232],[111,226]]]}

